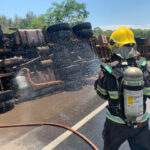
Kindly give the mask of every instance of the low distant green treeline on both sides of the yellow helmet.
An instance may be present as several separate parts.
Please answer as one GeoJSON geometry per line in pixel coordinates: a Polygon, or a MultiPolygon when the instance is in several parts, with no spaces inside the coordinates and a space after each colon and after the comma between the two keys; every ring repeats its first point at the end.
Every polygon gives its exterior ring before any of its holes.
{"type": "MultiPolygon", "coordinates": [[[[131,30],[133,31],[135,37],[142,37],[142,38],[150,38],[150,29],[132,29],[131,30]]],[[[99,36],[100,34],[104,34],[106,36],[110,36],[112,33],[113,33],[113,30],[106,30],[106,31],[103,31],[100,27],[96,27],[93,29],[94,31],[94,35],[95,36],[99,36]]]]}

